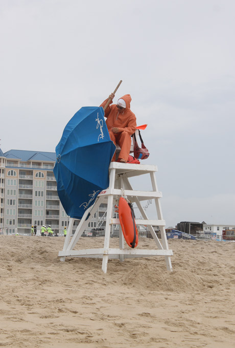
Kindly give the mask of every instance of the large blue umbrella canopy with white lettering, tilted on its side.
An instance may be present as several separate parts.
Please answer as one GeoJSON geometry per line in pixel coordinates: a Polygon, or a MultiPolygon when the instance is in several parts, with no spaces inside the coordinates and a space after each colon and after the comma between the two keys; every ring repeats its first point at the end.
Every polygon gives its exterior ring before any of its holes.
{"type": "Polygon", "coordinates": [[[103,107],[82,107],[67,123],[56,146],[53,170],[67,215],[81,219],[97,195],[109,186],[108,168],[115,148],[103,107]]]}

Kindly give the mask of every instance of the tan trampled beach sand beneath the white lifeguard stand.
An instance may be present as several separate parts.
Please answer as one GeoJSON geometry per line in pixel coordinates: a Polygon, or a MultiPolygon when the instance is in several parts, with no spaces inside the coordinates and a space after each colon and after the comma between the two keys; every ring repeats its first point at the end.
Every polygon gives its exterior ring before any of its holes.
{"type": "Polygon", "coordinates": [[[235,347],[235,243],[169,240],[173,272],[158,256],[109,260],[107,274],[101,259],[60,262],[63,243],[0,236],[0,347],[235,347]]]}

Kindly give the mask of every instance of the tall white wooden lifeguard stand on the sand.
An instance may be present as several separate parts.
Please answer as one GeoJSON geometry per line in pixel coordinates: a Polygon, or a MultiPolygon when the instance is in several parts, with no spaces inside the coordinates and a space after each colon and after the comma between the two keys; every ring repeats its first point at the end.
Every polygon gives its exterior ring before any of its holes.
{"type": "MultiPolygon", "coordinates": [[[[165,231],[165,221],[163,220],[161,206],[159,199],[162,197],[161,192],[158,192],[157,183],[155,178],[155,172],[157,167],[155,165],[143,165],[143,164],[129,164],[129,163],[119,163],[111,162],[109,166],[109,187],[103,190],[97,197],[96,202],[84,212],[82,219],[77,226],[77,229],[72,236],[72,229],[75,219],[70,219],[67,235],[65,237],[63,250],[59,251],[60,260],[64,261],[66,256],[69,257],[99,257],[103,258],[102,270],[104,273],[107,272],[107,264],[109,258],[120,259],[121,262],[125,258],[131,257],[150,257],[150,256],[165,256],[167,269],[172,271],[171,257],[173,255],[172,250],[169,250],[168,241],[165,231]],[[151,191],[141,191],[133,190],[129,182],[129,178],[150,175],[152,190],[151,191]],[[123,191],[124,190],[124,191],[123,191]],[[135,203],[142,214],[143,219],[136,219],[136,225],[148,226],[153,240],[156,243],[156,249],[138,249],[138,247],[132,249],[129,246],[124,246],[124,237],[120,225],[119,219],[114,219],[112,217],[113,204],[118,204],[120,197],[125,192],[126,197],[131,203],[135,203]],[[149,220],[144,208],[141,205],[142,201],[147,201],[153,199],[156,206],[156,220],[149,220]],[[83,231],[86,229],[88,223],[90,222],[92,216],[95,214],[97,209],[101,204],[107,204],[107,217],[106,217],[106,228],[104,237],[104,247],[97,249],[83,249],[74,250],[75,245],[78,243],[83,231]],[[111,225],[119,224],[119,248],[110,248],[110,231],[111,225]],[[159,226],[160,229],[160,239],[157,237],[153,226],[159,226]],[[72,236],[72,238],[71,238],[72,236]]],[[[142,181],[143,185],[145,180],[142,181]]]]}

